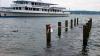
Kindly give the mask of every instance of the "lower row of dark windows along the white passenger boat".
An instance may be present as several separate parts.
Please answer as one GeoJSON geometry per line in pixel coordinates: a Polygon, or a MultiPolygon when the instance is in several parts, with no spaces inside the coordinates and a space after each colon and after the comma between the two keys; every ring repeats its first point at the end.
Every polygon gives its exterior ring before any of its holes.
{"type": "MultiPolygon", "coordinates": [[[[21,7],[13,7],[14,10],[22,10],[21,7]]],[[[25,7],[25,10],[30,10],[30,11],[51,11],[51,12],[61,12],[61,10],[56,10],[56,9],[39,9],[39,8],[28,8],[25,7]]]]}

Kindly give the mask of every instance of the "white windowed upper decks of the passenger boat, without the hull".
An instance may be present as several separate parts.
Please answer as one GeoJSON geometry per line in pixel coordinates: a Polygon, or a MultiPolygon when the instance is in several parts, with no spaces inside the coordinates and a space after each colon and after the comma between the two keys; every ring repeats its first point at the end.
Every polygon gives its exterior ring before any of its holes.
{"type": "Polygon", "coordinates": [[[6,12],[24,12],[24,13],[56,13],[63,14],[63,10],[66,8],[63,7],[52,7],[50,5],[57,5],[51,3],[37,2],[37,1],[25,1],[25,0],[17,0],[13,1],[11,7],[3,7],[0,11],[6,12]]]}

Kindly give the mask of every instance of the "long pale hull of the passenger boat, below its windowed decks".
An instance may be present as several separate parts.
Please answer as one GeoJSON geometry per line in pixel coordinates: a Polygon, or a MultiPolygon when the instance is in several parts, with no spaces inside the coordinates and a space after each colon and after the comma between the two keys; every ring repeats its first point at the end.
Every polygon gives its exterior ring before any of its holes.
{"type": "Polygon", "coordinates": [[[69,16],[68,14],[49,14],[49,13],[22,13],[0,11],[0,17],[33,17],[33,16],[69,16]]]}

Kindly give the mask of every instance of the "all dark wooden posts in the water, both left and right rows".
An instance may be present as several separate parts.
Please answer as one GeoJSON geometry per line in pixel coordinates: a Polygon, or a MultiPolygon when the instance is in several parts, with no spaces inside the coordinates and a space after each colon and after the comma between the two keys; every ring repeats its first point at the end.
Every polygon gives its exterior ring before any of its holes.
{"type": "MultiPolygon", "coordinates": [[[[78,18],[75,18],[74,20],[70,20],[70,28],[72,29],[73,27],[78,26],[78,18]]],[[[91,26],[92,26],[92,18],[89,19],[89,21],[83,25],[83,46],[86,47],[89,39],[89,34],[91,31],[91,26]]],[[[65,32],[68,31],[68,20],[65,20],[65,32]]],[[[58,22],[58,37],[61,37],[61,22],[58,22]]],[[[47,48],[51,47],[51,25],[47,24],[46,25],[46,43],[47,43],[47,48]]]]}

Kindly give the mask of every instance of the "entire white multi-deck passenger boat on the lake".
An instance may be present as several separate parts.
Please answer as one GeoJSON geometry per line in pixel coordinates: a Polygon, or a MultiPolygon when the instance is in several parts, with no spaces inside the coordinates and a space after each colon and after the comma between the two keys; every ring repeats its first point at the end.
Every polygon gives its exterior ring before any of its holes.
{"type": "Polygon", "coordinates": [[[38,1],[13,1],[11,7],[1,7],[0,16],[68,16],[70,13],[65,13],[66,8],[52,7],[51,3],[38,1]]]}

